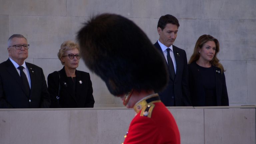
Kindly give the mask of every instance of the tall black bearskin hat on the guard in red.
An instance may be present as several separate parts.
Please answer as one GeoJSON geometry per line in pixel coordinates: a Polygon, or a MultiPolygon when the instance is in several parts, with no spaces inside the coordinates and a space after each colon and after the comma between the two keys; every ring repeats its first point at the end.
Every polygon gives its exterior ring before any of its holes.
{"type": "Polygon", "coordinates": [[[78,31],[81,56],[113,95],[161,91],[168,82],[164,58],[131,20],[116,14],[91,18],[78,31]]]}

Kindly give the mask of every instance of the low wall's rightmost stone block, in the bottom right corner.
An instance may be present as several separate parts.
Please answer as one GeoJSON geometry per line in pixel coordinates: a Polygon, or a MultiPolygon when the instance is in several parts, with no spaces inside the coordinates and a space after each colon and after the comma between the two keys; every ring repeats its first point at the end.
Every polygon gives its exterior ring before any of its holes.
{"type": "Polygon", "coordinates": [[[255,109],[204,109],[205,143],[255,144],[255,109]]]}

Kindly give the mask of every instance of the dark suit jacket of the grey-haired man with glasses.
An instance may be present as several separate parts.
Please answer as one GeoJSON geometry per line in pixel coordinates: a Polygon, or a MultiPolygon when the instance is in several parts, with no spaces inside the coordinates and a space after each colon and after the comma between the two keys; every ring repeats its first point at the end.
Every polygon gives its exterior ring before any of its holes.
{"type": "Polygon", "coordinates": [[[26,66],[31,81],[30,95],[25,94],[25,87],[11,60],[0,64],[0,108],[50,107],[50,95],[42,68],[27,62],[26,66]]]}

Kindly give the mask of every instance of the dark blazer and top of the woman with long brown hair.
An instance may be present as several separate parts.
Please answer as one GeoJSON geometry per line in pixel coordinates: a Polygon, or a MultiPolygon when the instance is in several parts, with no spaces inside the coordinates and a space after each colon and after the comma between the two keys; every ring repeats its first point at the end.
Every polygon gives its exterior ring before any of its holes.
{"type": "Polygon", "coordinates": [[[228,106],[224,72],[215,66],[201,67],[196,62],[188,65],[189,90],[193,106],[228,106]]]}

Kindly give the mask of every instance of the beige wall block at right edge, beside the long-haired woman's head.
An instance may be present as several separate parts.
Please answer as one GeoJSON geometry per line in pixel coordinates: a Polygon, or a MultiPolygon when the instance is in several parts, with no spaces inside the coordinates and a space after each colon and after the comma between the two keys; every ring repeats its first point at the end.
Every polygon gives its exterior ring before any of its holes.
{"type": "Polygon", "coordinates": [[[256,60],[255,33],[255,20],[220,20],[221,60],[256,60]]]}

